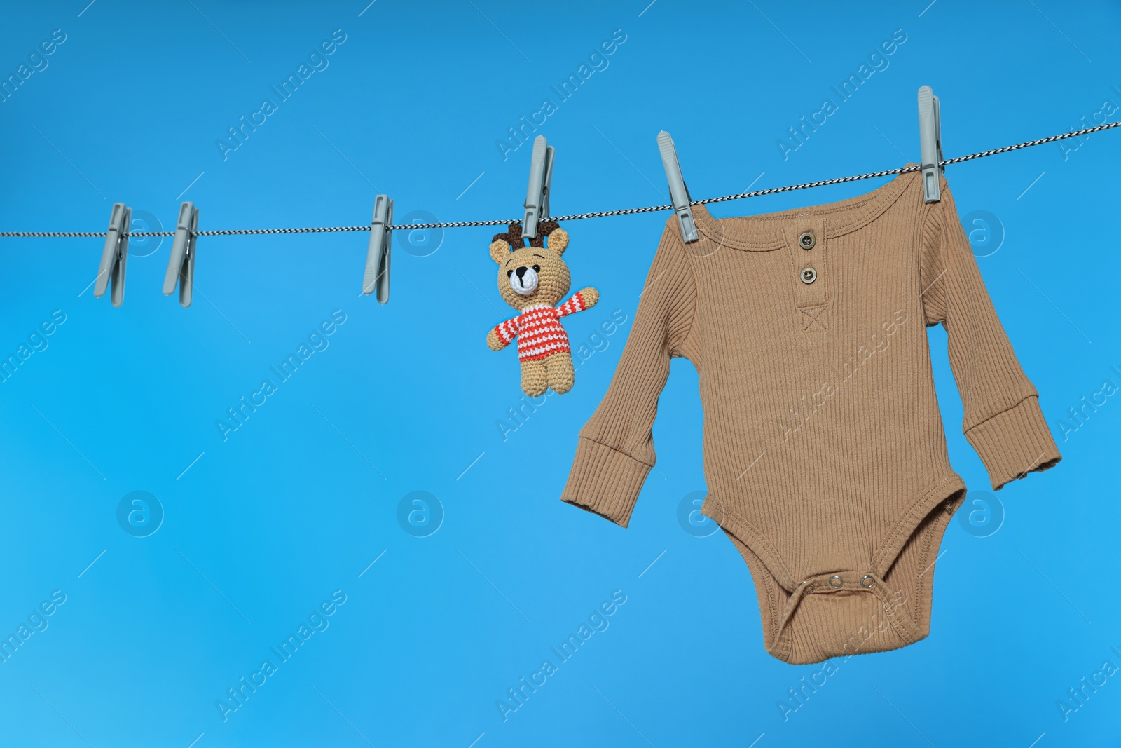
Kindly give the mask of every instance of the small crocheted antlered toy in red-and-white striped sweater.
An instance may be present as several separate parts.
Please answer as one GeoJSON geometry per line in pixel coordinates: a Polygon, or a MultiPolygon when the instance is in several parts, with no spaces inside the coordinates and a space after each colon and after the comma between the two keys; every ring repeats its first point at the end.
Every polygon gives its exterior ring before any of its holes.
{"type": "Polygon", "coordinates": [[[576,373],[560,317],[590,310],[600,301],[600,292],[590,287],[556,306],[572,284],[568,266],[560,259],[568,234],[553,221],[538,224],[537,233],[527,247],[521,224],[511,223],[506,233],[494,234],[490,246],[491,259],[498,262],[499,293],[519,314],[487,333],[487,344],[499,351],[518,339],[521,389],[530,397],[549,388],[558,395],[572,389],[576,373]]]}

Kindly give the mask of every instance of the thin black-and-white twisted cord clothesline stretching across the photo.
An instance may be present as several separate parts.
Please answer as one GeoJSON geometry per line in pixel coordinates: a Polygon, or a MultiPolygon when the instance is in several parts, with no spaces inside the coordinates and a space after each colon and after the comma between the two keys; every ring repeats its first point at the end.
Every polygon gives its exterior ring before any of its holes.
{"type": "MultiPolygon", "coordinates": [[[[1085,128],[1082,130],[1072,130],[1071,132],[1064,132],[1062,135],[1053,135],[1046,138],[1039,138],[1037,140],[1027,140],[1025,142],[1018,142],[1013,146],[1003,146],[1001,148],[993,148],[992,150],[982,150],[976,154],[970,154],[969,156],[958,156],[956,158],[949,158],[946,160],[938,161],[938,166],[948,166],[951,164],[961,164],[963,161],[971,161],[975,158],[984,158],[985,156],[995,156],[997,154],[1007,154],[1011,150],[1019,150],[1020,148],[1030,148],[1031,146],[1041,146],[1048,142],[1056,142],[1058,140],[1066,140],[1067,138],[1080,138],[1084,135],[1090,135],[1092,132],[1101,132],[1102,130],[1110,130],[1115,127],[1121,127],[1121,120],[1117,122],[1109,122],[1105,124],[1099,124],[1095,127],[1085,128]]],[[[795,190],[807,190],[809,187],[824,187],[831,184],[845,184],[849,182],[859,182],[861,179],[874,179],[877,177],[892,176],[895,174],[907,174],[908,172],[918,172],[921,166],[904,166],[897,169],[887,169],[883,172],[871,172],[869,174],[858,174],[854,176],[837,177],[834,179],[821,179],[818,182],[804,182],[803,184],[794,184],[785,187],[769,187],[767,190],[756,190],[753,192],[741,192],[735,195],[723,195],[721,197],[706,197],[704,200],[689,201],[689,205],[707,205],[710,203],[723,203],[730,200],[743,200],[745,197],[760,197],[762,195],[777,195],[784,192],[793,192],[795,190]]],[[[582,219],[599,219],[608,218],[612,215],[631,215],[634,213],[655,213],[658,211],[671,211],[673,205],[649,205],[646,207],[627,207],[618,211],[597,211],[594,213],[575,213],[573,215],[553,215],[544,221],[578,221],[582,219]]],[[[465,229],[470,227],[484,227],[484,225],[509,225],[510,223],[521,223],[519,219],[499,219],[494,221],[452,221],[446,223],[407,223],[400,225],[389,225],[386,227],[390,231],[416,231],[420,229],[465,229]]],[[[369,225],[343,225],[343,227],[309,227],[309,228],[297,228],[297,229],[212,229],[209,231],[196,231],[194,232],[197,237],[233,237],[233,236],[247,236],[247,234],[270,234],[270,233],[321,233],[321,232],[339,232],[339,231],[369,231],[369,225]]],[[[0,231],[0,237],[28,237],[28,238],[81,238],[81,239],[92,239],[96,237],[105,237],[105,231],[0,231]]],[[[135,231],[129,233],[130,237],[174,237],[174,231],[135,231]]]]}

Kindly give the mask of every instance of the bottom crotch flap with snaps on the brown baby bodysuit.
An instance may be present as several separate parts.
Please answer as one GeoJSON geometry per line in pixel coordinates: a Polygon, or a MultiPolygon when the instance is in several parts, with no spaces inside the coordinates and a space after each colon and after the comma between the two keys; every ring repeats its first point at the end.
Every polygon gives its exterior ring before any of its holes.
{"type": "Polygon", "coordinates": [[[907,595],[873,570],[803,580],[787,601],[770,653],[793,664],[895,649],[923,638],[907,595]]]}

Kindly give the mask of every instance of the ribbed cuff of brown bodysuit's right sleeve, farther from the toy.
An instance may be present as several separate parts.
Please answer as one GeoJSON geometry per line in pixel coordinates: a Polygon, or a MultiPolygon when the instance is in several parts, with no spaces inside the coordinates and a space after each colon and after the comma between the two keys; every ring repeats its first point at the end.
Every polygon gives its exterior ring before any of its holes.
{"type": "Polygon", "coordinates": [[[965,438],[989,470],[994,491],[1063,459],[1035,395],[973,426],[965,438]]]}

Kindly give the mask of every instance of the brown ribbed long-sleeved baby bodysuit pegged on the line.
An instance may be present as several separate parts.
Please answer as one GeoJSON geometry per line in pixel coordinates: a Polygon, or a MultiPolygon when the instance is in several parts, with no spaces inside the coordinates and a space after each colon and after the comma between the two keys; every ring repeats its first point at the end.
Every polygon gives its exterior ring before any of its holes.
{"type": "Polygon", "coordinates": [[[700,373],[702,511],[743,555],[788,663],[927,636],[949,467],[926,327],[946,329],[965,437],[993,489],[1060,460],[945,181],[912,172],[825,205],[667,222],[634,326],[562,499],[623,527],[655,462],[669,360],[700,373]]]}

